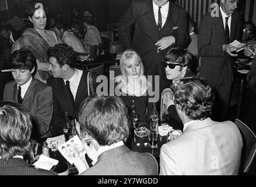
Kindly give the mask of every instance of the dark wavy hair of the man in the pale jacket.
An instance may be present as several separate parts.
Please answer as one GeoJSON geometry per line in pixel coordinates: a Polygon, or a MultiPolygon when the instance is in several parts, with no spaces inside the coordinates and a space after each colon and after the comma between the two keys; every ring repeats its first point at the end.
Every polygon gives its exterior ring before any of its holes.
{"type": "Polygon", "coordinates": [[[211,87],[200,78],[180,79],[172,85],[175,105],[192,120],[203,120],[211,116],[214,93],[211,87]]]}

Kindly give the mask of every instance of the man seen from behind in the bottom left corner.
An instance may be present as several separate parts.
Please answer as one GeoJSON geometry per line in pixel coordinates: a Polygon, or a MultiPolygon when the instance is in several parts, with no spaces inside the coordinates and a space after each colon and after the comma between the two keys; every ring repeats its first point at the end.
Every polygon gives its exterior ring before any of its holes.
{"type": "Polygon", "coordinates": [[[28,110],[13,102],[0,103],[0,175],[57,175],[23,160],[30,151],[32,123],[28,110]],[[3,150],[3,149],[2,149],[3,150]]]}

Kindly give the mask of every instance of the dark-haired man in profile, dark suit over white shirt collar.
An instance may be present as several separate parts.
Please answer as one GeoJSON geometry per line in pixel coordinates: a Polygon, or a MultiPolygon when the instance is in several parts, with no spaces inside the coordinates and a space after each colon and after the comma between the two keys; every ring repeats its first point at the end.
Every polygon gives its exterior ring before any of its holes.
{"type": "Polygon", "coordinates": [[[53,76],[47,84],[53,88],[53,118],[49,136],[63,134],[65,112],[77,117],[81,102],[88,96],[87,71],[77,70],[76,52],[67,44],[56,44],[47,50],[53,76]],[[68,81],[68,84],[67,84],[68,81]]]}

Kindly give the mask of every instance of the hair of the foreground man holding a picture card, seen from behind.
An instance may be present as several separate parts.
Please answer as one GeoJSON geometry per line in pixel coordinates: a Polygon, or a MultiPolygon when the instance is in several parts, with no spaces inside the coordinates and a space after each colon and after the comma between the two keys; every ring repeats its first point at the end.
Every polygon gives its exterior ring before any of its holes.
{"type": "Polygon", "coordinates": [[[129,136],[128,111],[117,96],[88,96],[81,105],[78,119],[81,128],[100,146],[125,142],[129,136]]]}

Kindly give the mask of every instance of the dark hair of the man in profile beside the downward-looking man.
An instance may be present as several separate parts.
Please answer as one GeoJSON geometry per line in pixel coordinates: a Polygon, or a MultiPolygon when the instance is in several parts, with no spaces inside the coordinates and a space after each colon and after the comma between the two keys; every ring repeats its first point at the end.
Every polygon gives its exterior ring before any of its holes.
{"type": "Polygon", "coordinates": [[[71,68],[76,67],[76,52],[72,47],[67,44],[60,43],[47,50],[47,56],[54,57],[57,63],[62,67],[64,64],[69,65],[71,68]]]}

